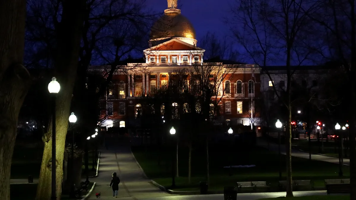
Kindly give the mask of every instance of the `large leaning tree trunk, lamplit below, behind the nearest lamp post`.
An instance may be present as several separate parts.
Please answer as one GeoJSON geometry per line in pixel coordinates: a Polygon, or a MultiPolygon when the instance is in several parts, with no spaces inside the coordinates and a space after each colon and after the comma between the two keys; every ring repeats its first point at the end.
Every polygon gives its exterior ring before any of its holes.
{"type": "MultiPolygon", "coordinates": [[[[82,36],[83,13],[86,4],[84,0],[62,1],[62,16],[60,25],[56,27],[57,48],[54,58],[54,75],[61,90],[56,99],[56,196],[61,200],[63,180],[63,153],[66,142],[68,116],[72,101],[75,77],[77,74],[79,47],[82,36]],[[70,30],[70,31],[68,31],[70,30]]],[[[49,80],[50,81],[50,80],[49,80]]],[[[52,124],[49,126],[49,136],[52,135],[52,124]]],[[[36,200],[51,198],[51,165],[52,138],[45,141],[40,177],[37,186],[36,200]]]]}

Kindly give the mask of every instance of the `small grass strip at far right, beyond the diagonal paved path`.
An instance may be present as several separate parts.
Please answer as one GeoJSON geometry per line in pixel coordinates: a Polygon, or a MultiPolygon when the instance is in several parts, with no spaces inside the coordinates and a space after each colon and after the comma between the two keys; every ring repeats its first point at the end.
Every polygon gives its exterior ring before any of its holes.
{"type": "MultiPolygon", "coordinates": [[[[336,151],[335,151],[335,142],[334,140],[329,140],[331,142],[326,142],[324,141],[324,151],[322,151],[322,154],[328,155],[328,156],[339,156],[339,144],[336,142],[336,151]]],[[[301,149],[303,151],[309,152],[309,142],[308,140],[293,140],[292,145],[294,145],[295,148],[301,149]]],[[[344,144],[345,145],[345,144],[344,144]]],[[[316,140],[311,140],[310,141],[310,146],[311,146],[311,151],[312,153],[319,153],[319,146],[318,146],[318,141],[316,140]]],[[[320,141],[320,148],[321,148],[321,141],[320,141]]],[[[348,151],[349,152],[349,151],[348,151]]],[[[349,153],[347,153],[347,156],[349,156],[349,153]]],[[[344,157],[348,158],[345,156],[344,157]]]]}

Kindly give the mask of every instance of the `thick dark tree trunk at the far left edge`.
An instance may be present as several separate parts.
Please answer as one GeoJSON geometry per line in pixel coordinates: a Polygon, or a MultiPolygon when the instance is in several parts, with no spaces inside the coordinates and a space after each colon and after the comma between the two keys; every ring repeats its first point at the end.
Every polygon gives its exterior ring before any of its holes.
{"type": "Polygon", "coordinates": [[[10,169],[17,122],[30,74],[21,64],[25,39],[25,0],[0,1],[0,199],[10,200],[10,169]]]}

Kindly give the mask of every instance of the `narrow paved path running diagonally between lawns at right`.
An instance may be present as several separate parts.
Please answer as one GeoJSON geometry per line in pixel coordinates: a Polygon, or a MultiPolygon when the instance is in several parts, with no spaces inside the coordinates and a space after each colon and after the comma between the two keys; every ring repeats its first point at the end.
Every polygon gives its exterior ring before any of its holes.
{"type": "MultiPolygon", "coordinates": [[[[268,148],[268,143],[263,138],[257,138],[257,146],[268,148]]],[[[278,144],[269,143],[269,150],[278,152],[278,144]]],[[[284,144],[281,145],[281,152],[282,154],[286,154],[286,146],[284,144]]],[[[298,149],[294,149],[294,148],[292,148],[292,156],[309,159],[308,152],[299,151],[298,149]]],[[[339,164],[339,158],[330,157],[330,156],[312,154],[312,159],[339,164]]],[[[350,165],[350,159],[344,158],[344,165],[350,165]]]]}

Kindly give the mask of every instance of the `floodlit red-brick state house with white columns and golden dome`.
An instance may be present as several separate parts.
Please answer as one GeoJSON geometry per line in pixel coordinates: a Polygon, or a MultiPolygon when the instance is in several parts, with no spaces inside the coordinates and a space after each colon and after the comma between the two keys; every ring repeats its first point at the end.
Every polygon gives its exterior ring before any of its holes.
{"type": "MultiPolygon", "coordinates": [[[[228,72],[225,68],[231,68],[228,61],[204,62],[205,50],[197,47],[192,23],[177,8],[178,0],[167,1],[168,9],[152,27],[148,41],[150,48],[143,51],[146,62],[128,63],[123,66],[130,69],[125,74],[114,74],[106,96],[101,99],[101,107],[106,107],[101,126],[131,127],[133,123],[130,121],[135,121],[141,106],[138,99],[169,87],[169,79],[180,69],[191,70],[189,77],[192,77],[197,65],[220,66],[224,72],[228,72]]],[[[209,78],[220,81],[215,88],[221,99],[219,123],[260,125],[260,113],[252,107],[260,98],[260,68],[251,64],[234,64],[234,67],[236,70],[230,70],[233,73],[224,76],[209,74],[209,78]]]]}

